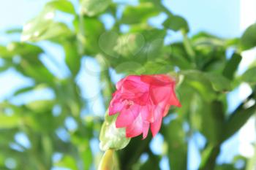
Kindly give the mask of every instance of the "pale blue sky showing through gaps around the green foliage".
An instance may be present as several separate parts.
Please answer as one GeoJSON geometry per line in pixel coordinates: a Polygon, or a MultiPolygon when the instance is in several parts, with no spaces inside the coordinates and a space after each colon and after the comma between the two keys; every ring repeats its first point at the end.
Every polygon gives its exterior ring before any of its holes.
{"type": "MultiPolygon", "coordinates": [[[[116,0],[118,1],[118,0],[116,0]]],[[[0,44],[5,44],[10,41],[7,36],[4,36],[3,31],[6,28],[13,28],[13,27],[20,27],[28,20],[33,18],[37,13],[42,9],[43,5],[45,4],[46,0],[9,0],[9,1],[2,1],[0,6],[0,44]]],[[[132,4],[136,4],[136,1],[132,1],[132,4]]],[[[189,22],[189,26],[191,28],[192,34],[197,33],[198,31],[208,31],[211,34],[216,34],[222,37],[234,37],[240,36],[241,32],[241,5],[239,0],[164,0],[163,3],[169,7],[172,12],[176,15],[181,15],[186,18],[189,22]]],[[[104,19],[104,18],[103,18],[104,19]]],[[[105,18],[105,23],[108,25],[110,24],[111,20],[107,17],[105,18]]],[[[156,21],[152,21],[153,23],[156,21]]],[[[157,23],[155,23],[157,24],[157,23]]],[[[13,39],[19,40],[19,37],[12,37],[13,39]]],[[[52,56],[59,56],[55,57],[55,60],[64,67],[64,53],[58,47],[58,45],[49,45],[48,43],[41,43],[42,47],[44,47],[48,53],[52,56]]],[[[48,68],[55,72],[56,75],[59,77],[65,77],[68,73],[63,72],[59,73],[56,71],[56,66],[53,63],[50,63],[47,58],[43,59],[44,63],[48,68]]],[[[246,61],[245,61],[246,63],[246,61]]],[[[1,61],[0,61],[1,64],[1,61]]],[[[97,96],[97,92],[99,92],[100,83],[99,83],[99,66],[91,59],[84,59],[83,64],[85,65],[85,70],[80,72],[78,76],[78,82],[81,86],[85,86],[86,89],[82,90],[81,95],[84,98],[90,98],[97,96]],[[91,74],[93,71],[94,74],[91,74]],[[83,78],[80,78],[83,77],[83,78]],[[90,83],[88,83],[90,82],[90,83]]],[[[248,61],[247,61],[248,64],[248,61]]],[[[243,68],[246,67],[244,64],[243,68]]],[[[65,70],[65,68],[63,69],[65,70]]],[[[120,76],[115,76],[115,82],[119,80],[120,76]]],[[[0,74],[0,101],[4,98],[10,96],[13,90],[26,86],[31,85],[30,80],[24,79],[21,75],[15,73],[12,69],[8,70],[7,72],[0,74]],[[7,83],[8,82],[8,83],[7,83]]],[[[245,85],[246,86],[246,85],[245,85]]],[[[244,86],[244,87],[245,87],[244,86]]],[[[246,93],[249,93],[249,88],[245,87],[246,93]]],[[[236,105],[239,104],[244,96],[238,98],[238,100],[233,100],[233,98],[237,98],[239,96],[241,90],[244,88],[238,88],[234,90],[233,93],[229,95],[229,102],[230,102],[230,110],[236,108],[236,105]]],[[[244,90],[243,90],[244,91],[244,90]]],[[[41,98],[51,98],[53,96],[50,91],[48,91],[45,95],[45,91],[38,92],[37,95],[34,95],[35,98],[40,96],[41,98]]],[[[26,96],[25,96],[26,97],[26,96]]],[[[31,98],[30,98],[31,99],[31,98]]],[[[20,104],[21,100],[16,98],[14,101],[17,104],[20,104]]],[[[104,113],[103,107],[95,107],[101,104],[100,99],[92,100],[91,102],[91,109],[97,114],[102,115],[104,113]]],[[[157,148],[157,145],[162,142],[162,136],[159,135],[158,137],[154,138],[154,141],[151,143],[152,150],[157,148]]],[[[200,163],[199,153],[196,149],[197,144],[203,144],[204,139],[203,136],[197,134],[189,141],[189,170],[195,170],[200,163]]],[[[238,146],[241,143],[239,139],[239,134],[233,136],[232,139],[228,140],[222,146],[222,155],[219,156],[218,162],[225,163],[231,161],[233,155],[236,155],[239,150],[238,146]],[[233,150],[233,152],[230,152],[233,150]]],[[[97,142],[94,142],[97,144],[97,142]]],[[[157,150],[155,150],[157,153],[157,150]]],[[[157,153],[158,154],[158,153],[157,153]]],[[[167,159],[164,158],[161,162],[162,169],[167,170],[167,159]]]]}

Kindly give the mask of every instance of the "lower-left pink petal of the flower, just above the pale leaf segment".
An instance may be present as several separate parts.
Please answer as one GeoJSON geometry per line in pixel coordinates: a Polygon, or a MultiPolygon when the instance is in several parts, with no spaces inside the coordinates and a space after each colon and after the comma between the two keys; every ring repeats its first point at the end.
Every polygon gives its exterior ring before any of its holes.
{"type": "Polygon", "coordinates": [[[129,108],[124,108],[116,119],[116,128],[124,128],[131,124],[139,115],[140,106],[134,104],[129,108]]]}

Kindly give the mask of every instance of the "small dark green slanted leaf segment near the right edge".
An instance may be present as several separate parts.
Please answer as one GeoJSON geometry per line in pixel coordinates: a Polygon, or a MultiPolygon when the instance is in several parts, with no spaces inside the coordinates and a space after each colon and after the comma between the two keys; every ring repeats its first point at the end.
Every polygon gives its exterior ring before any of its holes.
{"type": "Polygon", "coordinates": [[[222,74],[227,77],[229,80],[233,80],[234,74],[238,69],[238,65],[241,61],[242,57],[238,53],[234,53],[229,61],[227,61],[225,65],[225,69],[223,70],[222,74]]]}

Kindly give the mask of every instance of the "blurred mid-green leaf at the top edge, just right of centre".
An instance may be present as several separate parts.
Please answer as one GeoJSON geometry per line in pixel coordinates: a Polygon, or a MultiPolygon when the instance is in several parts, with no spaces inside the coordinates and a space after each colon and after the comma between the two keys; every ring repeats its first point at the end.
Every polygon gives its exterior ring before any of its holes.
{"type": "Polygon", "coordinates": [[[140,3],[138,6],[128,6],[120,22],[125,24],[145,23],[148,18],[159,14],[159,10],[150,2],[140,3]]]}

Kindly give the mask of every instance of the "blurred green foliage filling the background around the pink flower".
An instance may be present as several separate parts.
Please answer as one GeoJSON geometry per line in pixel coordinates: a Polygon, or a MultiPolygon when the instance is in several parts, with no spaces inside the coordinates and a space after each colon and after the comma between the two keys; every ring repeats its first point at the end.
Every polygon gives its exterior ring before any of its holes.
{"type": "MultiPolygon", "coordinates": [[[[9,100],[0,103],[0,169],[48,170],[56,166],[72,170],[96,169],[102,153],[92,154],[90,141],[99,137],[104,116],[93,113],[81,116],[89,100],[80,96],[76,77],[83,67],[81,59],[85,57],[95,58],[101,67],[100,81],[106,85],[101,96],[106,108],[115,89],[110,68],[124,75],[168,73],[178,80],[176,90],[182,107],[170,109],[169,116],[175,118],[162,125],[160,133],[165,139],[164,145],[159,146],[162,153],[155,155],[149,148],[151,136],[145,140],[141,140],[141,136],[131,139],[128,146],[115,155],[120,169],[159,169],[159,161],[164,156],[169,159],[170,169],[187,169],[188,140],[198,132],[207,141],[200,148],[201,170],[238,169],[234,166],[236,159],[224,165],[217,165],[216,160],[221,144],[255,114],[255,103],[249,104],[255,100],[255,63],[252,62],[243,75],[236,74],[241,52],[256,46],[255,25],[236,39],[222,39],[206,32],[187,36],[187,21],[173,15],[157,0],[141,0],[137,6],[110,0],[80,0],[79,9],[70,1],[54,0],[26,23],[23,31],[7,31],[7,34],[17,33],[21,35],[21,42],[0,46],[0,57],[4,61],[0,72],[13,68],[33,80],[34,85],[21,88],[12,96],[47,88],[53,90],[54,98],[25,101],[23,105],[12,104],[9,100]],[[121,6],[124,11],[119,16],[117,11],[121,6]],[[67,23],[56,21],[56,12],[71,15],[72,23],[67,26],[67,23]],[[149,18],[161,13],[167,15],[161,28],[148,24],[149,18]],[[115,21],[110,29],[105,28],[100,19],[105,14],[115,21]],[[121,26],[129,29],[121,31],[121,26]],[[165,43],[167,31],[178,31],[183,39],[165,43]],[[65,63],[70,71],[68,77],[56,77],[42,63],[39,56],[47,53],[37,44],[41,41],[55,43],[64,49],[65,63]],[[233,49],[230,58],[226,53],[229,49],[233,49]],[[14,60],[17,56],[18,62],[14,60]],[[242,82],[251,85],[252,94],[228,113],[227,93],[242,82]],[[54,107],[60,108],[59,115],[53,114],[54,107]],[[77,123],[78,128],[74,131],[65,126],[67,117],[77,123]],[[188,125],[188,131],[184,124],[188,125]],[[70,140],[64,141],[56,134],[59,128],[67,131],[70,140]],[[15,141],[18,133],[26,134],[29,147],[15,141]],[[53,161],[56,153],[61,154],[61,158],[53,161]],[[140,161],[143,154],[148,155],[146,161],[140,161]],[[8,166],[8,163],[15,166],[8,166]]],[[[240,169],[255,167],[255,157],[238,160],[245,162],[240,169]]]]}

